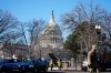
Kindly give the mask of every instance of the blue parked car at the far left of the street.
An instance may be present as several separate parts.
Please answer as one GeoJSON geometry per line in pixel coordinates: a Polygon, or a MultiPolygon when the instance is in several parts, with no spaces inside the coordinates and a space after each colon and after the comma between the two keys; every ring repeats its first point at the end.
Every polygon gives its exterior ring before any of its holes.
{"type": "Polygon", "coordinates": [[[30,64],[28,62],[22,62],[20,60],[3,60],[3,63],[0,67],[1,71],[27,71],[27,70],[33,70],[33,64],[30,64]]]}

